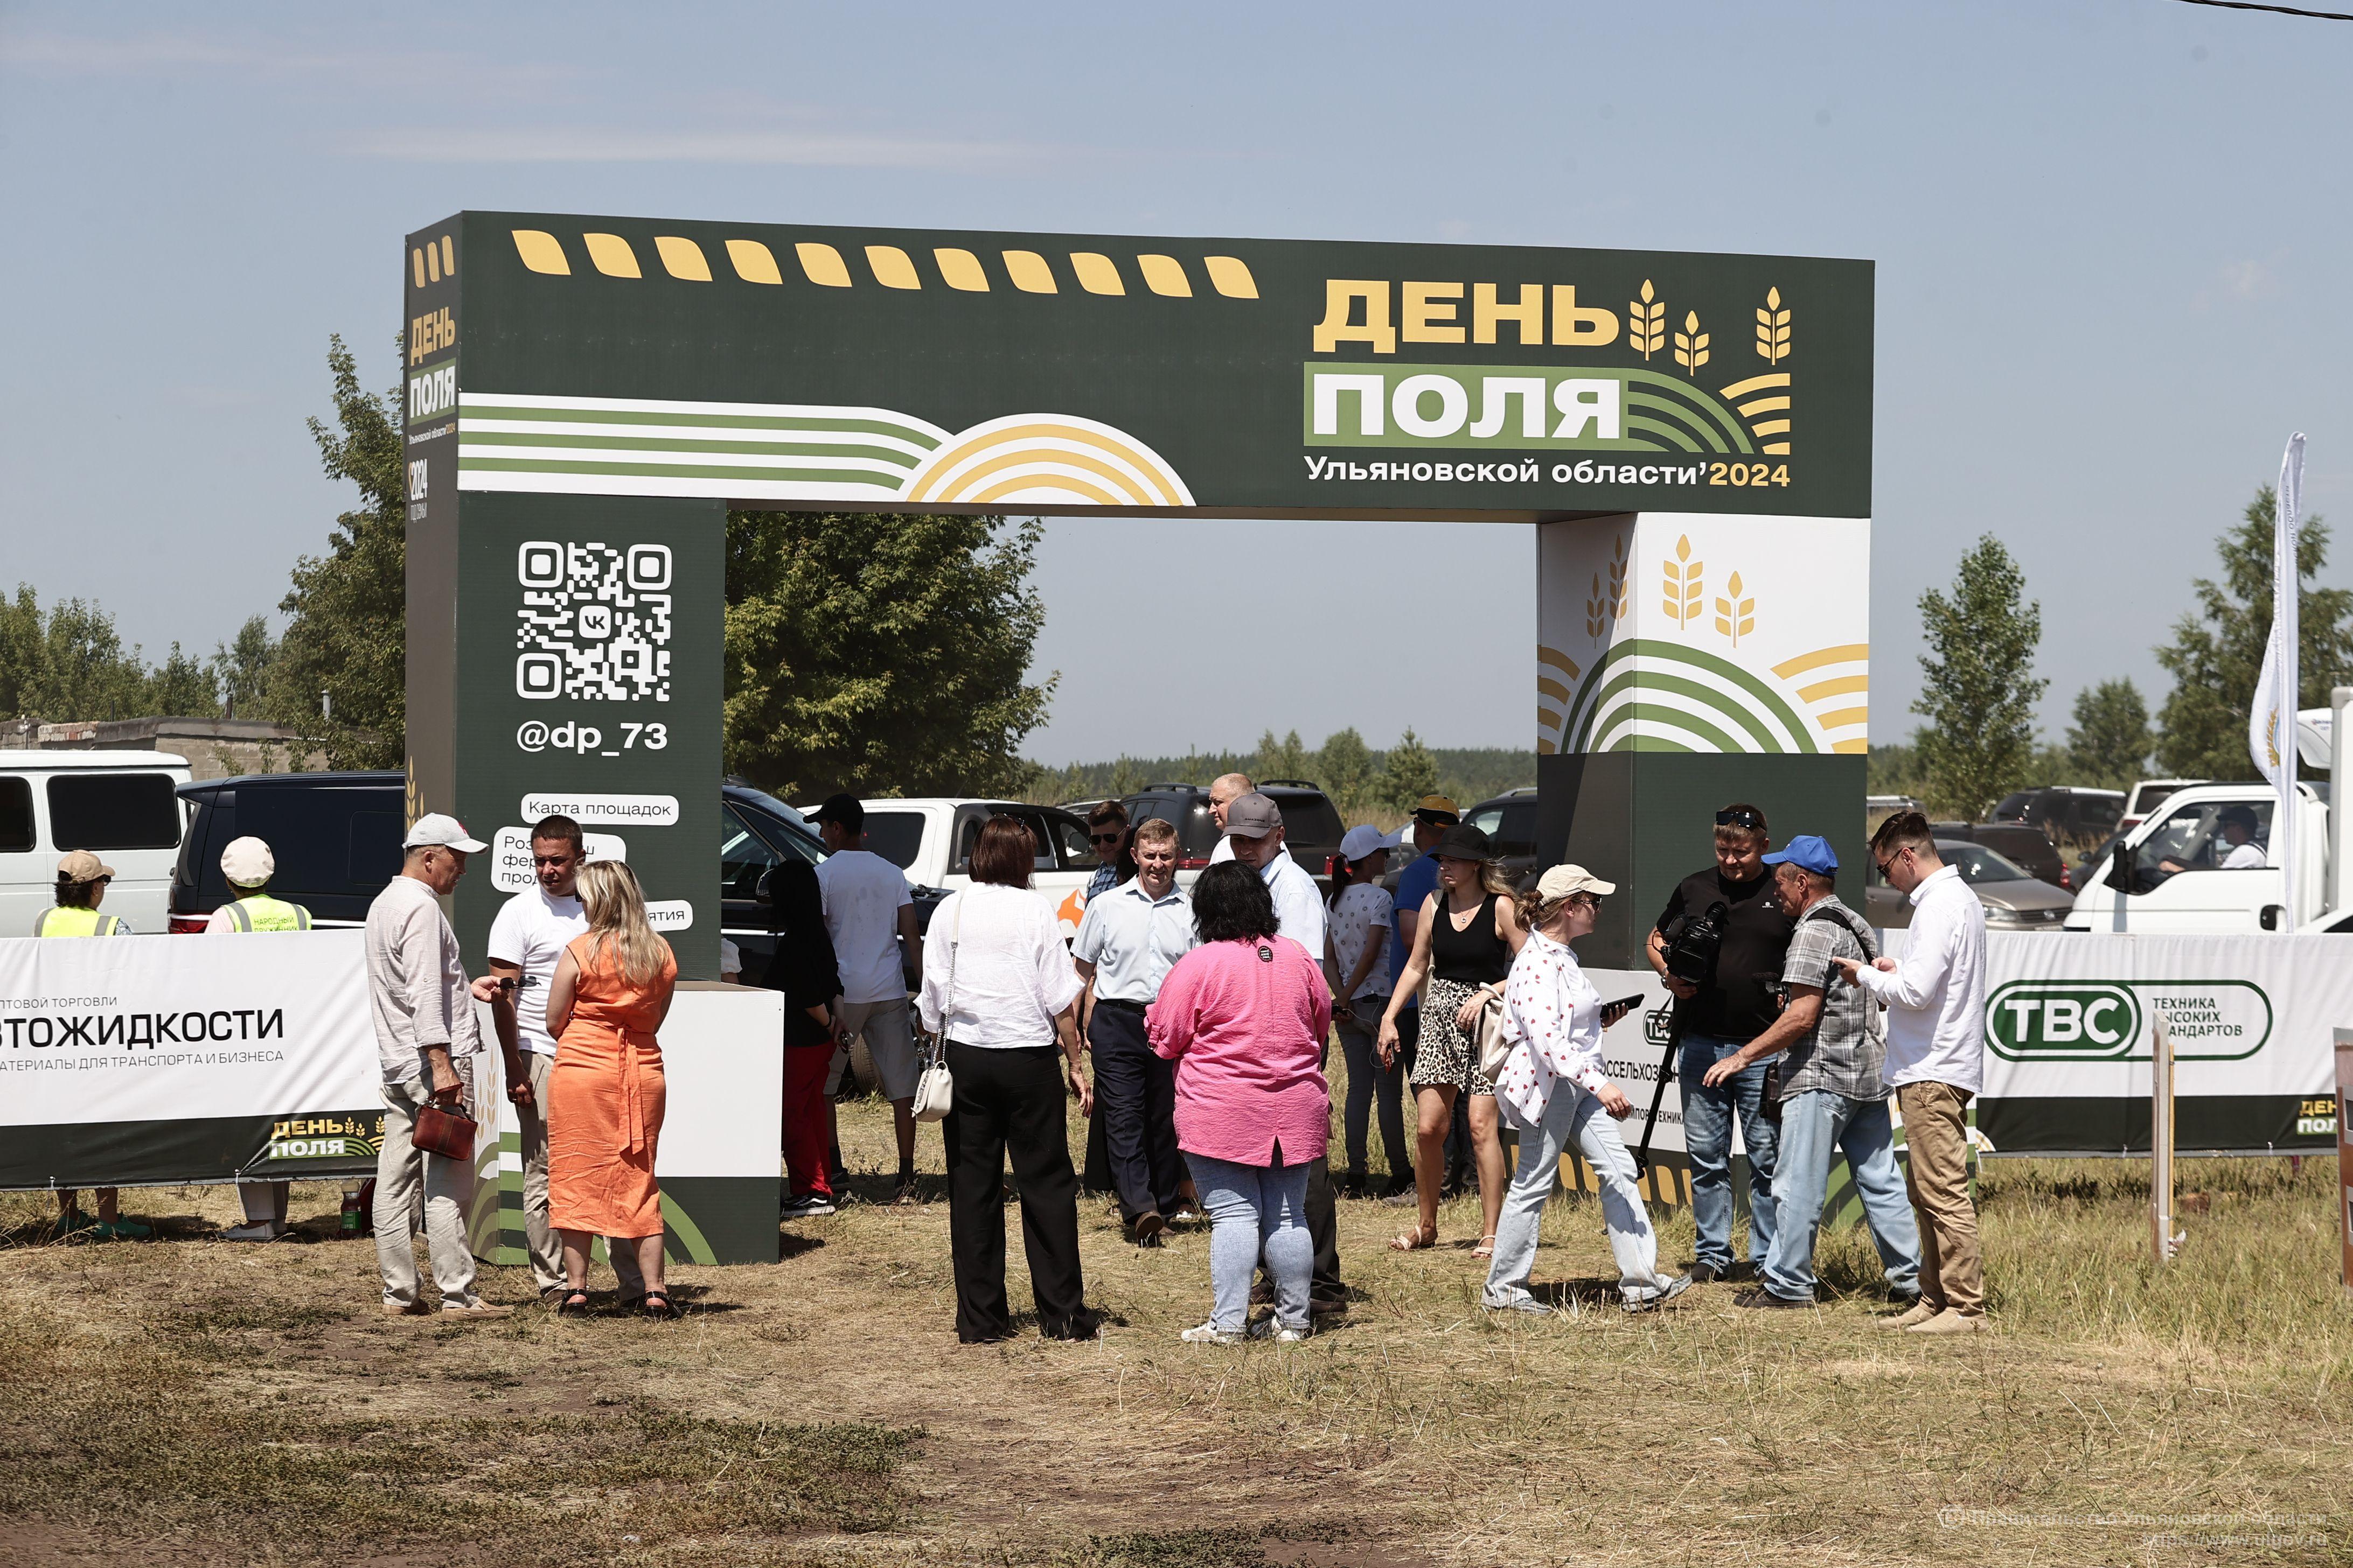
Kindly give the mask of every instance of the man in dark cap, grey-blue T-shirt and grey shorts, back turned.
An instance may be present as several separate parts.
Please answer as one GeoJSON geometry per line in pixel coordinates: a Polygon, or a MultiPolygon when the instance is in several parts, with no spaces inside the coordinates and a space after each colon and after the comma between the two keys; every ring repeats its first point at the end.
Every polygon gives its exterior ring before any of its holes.
{"type": "MultiPolygon", "coordinates": [[[[906,940],[906,952],[915,954],[920,990],[922,933],[915,926],[915,900],[896,865],[861,849],[866,806],[854,795],[833,795],[809,820],[826,835],[826,860],[816,867],[816,886],[826,898],[826,936],[833,938],[833,961],[842,976],[842,994],[833,999],[842,1041],[835,1065],[847,1065],[849,1041],[864,1034],[899,1133],[896,1201],[913,1204],[915,1079],[922,1074],[922,1060],[915,1056],[899,943],[906,940]]],[[[826,1086],[826,1093],[838,1091],[840,1077],[826,1086]]]]}

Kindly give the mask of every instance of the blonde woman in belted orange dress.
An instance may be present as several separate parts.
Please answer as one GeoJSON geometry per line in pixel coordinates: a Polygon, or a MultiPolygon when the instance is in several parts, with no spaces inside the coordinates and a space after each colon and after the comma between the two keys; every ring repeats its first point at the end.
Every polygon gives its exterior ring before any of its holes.
{"type": "Polygon", "coordinates": [[[635,1246],[647,1316],[678,1316],[661,1279],[661,1044],[678,959],[645,922],[638,877],[621,860],[579,870],[588,931],[548,980],[548,1222],[565,1241],[558,1314],[588,1312],[588,1241],[635,1246]]]}

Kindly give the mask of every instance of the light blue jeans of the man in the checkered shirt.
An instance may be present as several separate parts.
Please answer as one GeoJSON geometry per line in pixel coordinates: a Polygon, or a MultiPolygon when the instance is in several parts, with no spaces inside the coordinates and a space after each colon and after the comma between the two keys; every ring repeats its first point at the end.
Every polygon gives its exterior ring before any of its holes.
{"type": "Polygon", "coordinates": [[[1887,1269],[1887,1291],[1920,1288],[1920,1227],[1913,1222],[1887,1100],[1849,1100],[1809,1088],[1781,1100],[1781,1164],[1774,1166],[1774,1237],[1765,1258],[1765,1288],[1788,1300],[1814,1300],[1814,1232],[1831,1190],[1831,1157],[1845,1154],[1854,1192],[1864,1199],[1871,1241],[1887,1269]]]}

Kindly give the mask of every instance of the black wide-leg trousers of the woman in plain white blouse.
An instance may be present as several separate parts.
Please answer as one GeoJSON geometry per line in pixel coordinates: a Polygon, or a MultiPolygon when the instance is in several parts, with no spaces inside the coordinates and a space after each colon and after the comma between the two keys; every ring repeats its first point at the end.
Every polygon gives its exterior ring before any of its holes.
{"type": "Polygon", "coordinates": [[[948,1253],[955,1260],[955,1338],[1012,1335],[1005,1302],[1005,1161],[1021,1187],[1021,1251],[1038,1298],[1038,1328],[1085,1338],[1092,1314],[1078,1269],[1078,1173],[1064,1135],[1061,1051],[984,1051],[948,1041],[955,1098],[948,1145],[948,1253]]]}

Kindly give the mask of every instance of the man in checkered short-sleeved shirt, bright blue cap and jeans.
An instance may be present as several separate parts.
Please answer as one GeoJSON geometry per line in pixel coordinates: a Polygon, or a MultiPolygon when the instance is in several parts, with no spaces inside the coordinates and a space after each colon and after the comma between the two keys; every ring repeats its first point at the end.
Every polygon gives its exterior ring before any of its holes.
{"type": "Polygon", "coordinates": [[[1824,839],[1795,837],[1781,853],[1765,856],[1765,865],[1774,867],[1781,912],[1798,922],[1781,964],[1788,1006],[1772,1027],[1715,1063],[1706,1079],[1713,1086],[1753,1063],[1788,1053],[1779,1074],[1781,1154],[1772,1178],[1772,1251],[1760,1269],[1760,1288],[1741,1291],[1732,1305],[1814,1305],[1814,1232],[1821,1229],[1831,1159],[1845,1154],[1864,1199],[1871,1241],[1887,1269],[1887,1295],[1899,1307],[1911,1307],[1920,1298],[1920,1227],[1904,1194],[1904,1173],[1897,1171],[1887,1084],[1880,1081],[1887,1039],[1878,1032],[1878,1001],[1847,985],[1835,964],[1868,964],[1875,957],[1868,926],[1838,900],[1838,856],[1824,839]]]}

